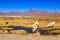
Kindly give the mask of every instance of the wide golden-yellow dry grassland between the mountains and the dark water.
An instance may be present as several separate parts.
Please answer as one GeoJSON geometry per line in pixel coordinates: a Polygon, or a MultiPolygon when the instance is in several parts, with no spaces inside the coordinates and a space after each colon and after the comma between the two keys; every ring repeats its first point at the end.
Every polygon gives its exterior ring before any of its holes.
{"type": "Polygon", "coordinates": [[[37,16],[37,17],[0,17],[0,26],[5,26],[5,22],[8,22],[8,26],[25,26],[32,27],[31,25],[35,21],[40,20],[40,27],[46,27],[49,22],[56,21],[55,26],[60,26],[59,16],[37,16]],[[48,20],[47,20],[48,19],[48,20]]]}

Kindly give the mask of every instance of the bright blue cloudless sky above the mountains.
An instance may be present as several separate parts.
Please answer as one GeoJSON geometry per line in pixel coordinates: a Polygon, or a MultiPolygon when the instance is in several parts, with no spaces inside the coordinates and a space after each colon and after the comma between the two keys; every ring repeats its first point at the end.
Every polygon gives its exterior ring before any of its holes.
{"type": "Polygon", "coordinates": [[[60,0],[0,0],[0,12],[25,11],[31,8],[60,11],[60,0]]]}

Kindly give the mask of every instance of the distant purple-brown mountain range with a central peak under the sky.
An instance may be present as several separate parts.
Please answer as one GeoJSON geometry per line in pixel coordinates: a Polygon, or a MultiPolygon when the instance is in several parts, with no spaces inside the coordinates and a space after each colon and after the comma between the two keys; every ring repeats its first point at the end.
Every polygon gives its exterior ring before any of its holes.
{"type": "Polygon", "coordinates": [[[60,16],[60,12],[28,10],[25,12],[0,12],[0,16],[60,16]]]}

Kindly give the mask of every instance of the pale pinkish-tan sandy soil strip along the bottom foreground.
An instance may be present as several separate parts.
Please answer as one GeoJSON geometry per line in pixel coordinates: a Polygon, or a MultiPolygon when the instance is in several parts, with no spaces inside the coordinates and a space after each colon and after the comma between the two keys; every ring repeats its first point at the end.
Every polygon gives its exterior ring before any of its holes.
{"type": "Polygon", "coordinates": [[[0,34],[0,40],[60,40],[59,36],[40,36],[29,35],[0,34]]]}

